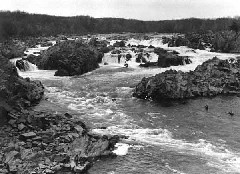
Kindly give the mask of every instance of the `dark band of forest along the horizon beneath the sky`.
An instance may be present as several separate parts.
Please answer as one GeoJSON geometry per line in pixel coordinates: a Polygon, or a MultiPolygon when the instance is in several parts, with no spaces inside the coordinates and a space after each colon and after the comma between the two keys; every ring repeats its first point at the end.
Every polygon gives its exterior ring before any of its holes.
{"type": "Polygon", "coordinates": [[[187,33],[229,29],[239,18],[181,19],[140,21],[121,18],[92,18],[89,16],[59,17],[29,14],[21,11],[0,11],[0,38],[50,36],[57,34],[87,34],[113,32],[187,33]]]}

